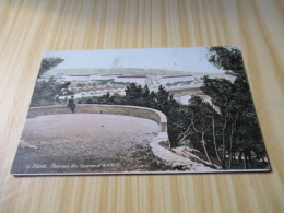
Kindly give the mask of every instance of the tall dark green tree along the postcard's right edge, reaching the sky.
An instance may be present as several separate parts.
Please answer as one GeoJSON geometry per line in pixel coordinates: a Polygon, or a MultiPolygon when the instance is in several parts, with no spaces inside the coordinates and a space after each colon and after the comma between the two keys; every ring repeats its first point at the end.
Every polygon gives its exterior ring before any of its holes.
{"type": "MultiPolygon", "coordinates": [[[[258,119],[250,94],[241,54],[233,47],[211,47],[209,61],[215,67],[226,70],[226,74],[235,76],[234,82],[224,79],[204,78],[201,88],[212,98],[212,104],[222,115],[222,159],[225,152],[229,154],[232,165],[233,150],[244,153],[245,168],[251,163],[251,152],[264,150],[258,119]]],[[[224,166],[224,165],[223,165],[224,166]]]]}

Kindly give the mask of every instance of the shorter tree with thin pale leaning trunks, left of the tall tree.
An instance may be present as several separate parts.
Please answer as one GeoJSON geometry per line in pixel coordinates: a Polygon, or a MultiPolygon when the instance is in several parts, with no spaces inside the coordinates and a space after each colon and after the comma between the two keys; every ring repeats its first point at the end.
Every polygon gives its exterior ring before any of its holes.
{"type": "Polygon", "coordinates": [[[182,114],[178,116],[179,129],[182,131],[176,139],[178,144],[190,140],[191,146],[203,151],[206,161],[215,168],[220,168],[220,166],[212,161],[211,156],[217,158],[217,163],[222,165],[220,146],[216,143],[220,132],[215,129],[218,120],[220,116],[212,105],[199,96],[192,96],[189,105],[185,106],[182,114]]]}

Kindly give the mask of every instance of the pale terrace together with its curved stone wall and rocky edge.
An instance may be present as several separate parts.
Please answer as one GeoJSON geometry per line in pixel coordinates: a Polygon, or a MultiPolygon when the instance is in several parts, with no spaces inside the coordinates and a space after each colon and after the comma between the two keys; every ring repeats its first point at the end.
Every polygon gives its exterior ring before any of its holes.
{"type": "Polygon", "coordinates": [[[163,113],[144,107],[78,105],[29,108],[14,174],[162,171],[167,165],[208,169],[162,147],[163,113]],[[164,161],[164,162],[163,162],[164,161]],[[167,165],[165,164],[167,163],[167,165]]]}

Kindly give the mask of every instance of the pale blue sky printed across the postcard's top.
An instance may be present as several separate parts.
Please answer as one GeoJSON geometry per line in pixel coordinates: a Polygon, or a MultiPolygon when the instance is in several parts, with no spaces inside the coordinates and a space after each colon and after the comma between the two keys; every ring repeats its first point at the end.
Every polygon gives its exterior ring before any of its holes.
{"type": "Polygon", "coordinates": [[[224,72],[206,59],[206,47],[47,51],[44,57],[64,59],[56,69],[166,69],[224,72]]]}

